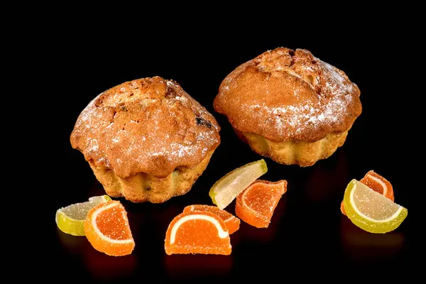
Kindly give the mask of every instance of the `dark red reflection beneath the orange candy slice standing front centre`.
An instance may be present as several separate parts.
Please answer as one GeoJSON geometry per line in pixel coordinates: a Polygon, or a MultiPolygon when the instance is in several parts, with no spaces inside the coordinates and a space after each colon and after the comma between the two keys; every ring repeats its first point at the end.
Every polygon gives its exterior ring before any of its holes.
{"type": "Polygon", "coordinates": [[[226,275],[232,268],[232,254],[165,254],[165,268],[173,277],[190,278],[194,275],[226,275]]]}

